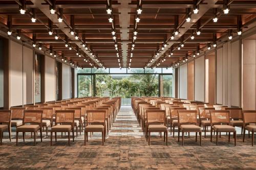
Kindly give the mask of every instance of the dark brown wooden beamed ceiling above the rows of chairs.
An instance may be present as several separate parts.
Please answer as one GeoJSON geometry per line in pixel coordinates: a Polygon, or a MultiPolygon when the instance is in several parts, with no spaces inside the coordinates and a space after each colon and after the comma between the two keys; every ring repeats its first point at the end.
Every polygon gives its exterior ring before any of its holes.
{"type": "Polygon", "coordinates": [[[42,46],[43,50],[80,67],[170,67],[202,53],[209,45],[212,48],[214,43],[228,40],[230,35],[236,36],[240,30],[244,32],[255,18],[256,1],[246,0],[0,1],[2,31],[10,30],[11,36],[19,35],[31,45],[35,43],[35,48],[42,46]],[[19,9],[24,6],[26,12],[20,14],[19,9]],[[223,12],[225,6],[229,8],[228,14],[223,12]],[[193,13],[195,7],[199,8],[198,14],[193,13]],[[51,8],[56,10],[55,14],[50,13],[51,8]],[[112,9],[111,14],[107,13],[108,8],[112,9]],[[141,14],[138,8],[142,9],[141,14]],[[33,15],[36,22],[31,21],[33,15]],[[61,23],[57,20],[59,15],[61,23]],[[218,21],[214,22],[216,15],[218,21]],[[186,22],[187,16],[190,22],[186,22]],[[113,22],[109,22],[110,17],[113,22]],[[49,30],[53,35],[49,35],[49,30]],[[78,39],[70,34],[72,30],[78,39]],[[176,30],[179,34],[175,36],[176,30]],[[198,30],[200,35],[196,33],[198,30]],[[190,38],[192,35],[194,39],[190,38]],[[178,50],[182,43],[184,46],[178,50]],[[162,49],[164,44],[166,47],[162,49]]]}

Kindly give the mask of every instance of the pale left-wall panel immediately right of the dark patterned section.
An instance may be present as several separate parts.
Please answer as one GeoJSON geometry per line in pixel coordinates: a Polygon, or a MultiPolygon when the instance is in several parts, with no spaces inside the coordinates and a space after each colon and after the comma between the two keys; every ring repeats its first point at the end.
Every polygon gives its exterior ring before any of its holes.
{"type": "Polygon", "coordinates": [[[45,57],[45,101],[55,101],[55,59],[45,57]]]}

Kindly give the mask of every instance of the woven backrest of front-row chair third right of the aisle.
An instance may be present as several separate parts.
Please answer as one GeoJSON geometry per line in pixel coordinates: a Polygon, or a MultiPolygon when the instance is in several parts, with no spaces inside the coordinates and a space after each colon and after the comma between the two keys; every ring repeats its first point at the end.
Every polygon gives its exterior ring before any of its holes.
{"type": "Polygon", "coordinates": [[[228,110],[210,110],[210,124],[229,124],[229,111],[228,110]]]}

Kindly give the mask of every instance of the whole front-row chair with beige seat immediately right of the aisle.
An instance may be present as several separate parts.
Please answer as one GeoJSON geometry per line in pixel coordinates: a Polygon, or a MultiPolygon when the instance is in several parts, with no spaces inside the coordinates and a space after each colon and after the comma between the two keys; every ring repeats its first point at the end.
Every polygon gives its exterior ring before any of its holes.
{"type": "Polygon", "coordinates": [[[168,140],[168,128],[166,125],[165,110],[146,110],[146,138],[150,145],[151,132],[164,133],[164,141],[168,140]]]}

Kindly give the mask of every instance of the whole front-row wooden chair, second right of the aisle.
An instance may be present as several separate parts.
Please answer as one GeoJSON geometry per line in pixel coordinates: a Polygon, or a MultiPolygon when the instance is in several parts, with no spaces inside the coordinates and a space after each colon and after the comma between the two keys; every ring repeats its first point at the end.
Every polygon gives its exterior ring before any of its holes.
{"type": "Polygon", "coordinates": [[[200,146],[202,145],[202,130],[197,126],[197,110],[178,110],[178,141],[180,141],[180,131],[182,132],[182,145],[184,145],[184,132],[196,132],[200,135],[200,146]]]}

